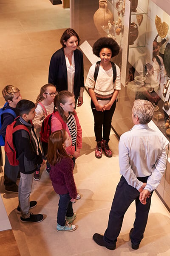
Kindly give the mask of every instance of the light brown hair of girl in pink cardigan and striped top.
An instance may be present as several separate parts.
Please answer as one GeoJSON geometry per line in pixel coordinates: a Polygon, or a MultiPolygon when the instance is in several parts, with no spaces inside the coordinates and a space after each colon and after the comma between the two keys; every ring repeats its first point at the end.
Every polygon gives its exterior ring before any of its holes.
{"type": "MultiPolygon", "coordinates": [[[[74,97],[74,94],[67,91],[63,90],[60,91],[54,98],[54,111],[58,111],[64,122],[67,122],[67,117],[64,114],[63,108],[60,106],[60,103],[63,105],[68,101],[68,98],[74,97]]],[[[73,115],[75,114],[74,112],[71,112],[73,115]]]]}

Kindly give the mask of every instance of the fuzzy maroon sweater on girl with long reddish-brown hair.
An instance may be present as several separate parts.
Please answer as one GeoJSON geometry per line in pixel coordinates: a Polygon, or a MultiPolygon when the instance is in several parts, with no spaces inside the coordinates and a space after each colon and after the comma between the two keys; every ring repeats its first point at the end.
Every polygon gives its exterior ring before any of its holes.
{"type": "Polygon", "coordinates": [[[51,166],[50,178],[57,194],[70,193],[71,198],[77,198],[77,189],[73,177],[73,160],[63,157],[55,166],[51,166]]]}

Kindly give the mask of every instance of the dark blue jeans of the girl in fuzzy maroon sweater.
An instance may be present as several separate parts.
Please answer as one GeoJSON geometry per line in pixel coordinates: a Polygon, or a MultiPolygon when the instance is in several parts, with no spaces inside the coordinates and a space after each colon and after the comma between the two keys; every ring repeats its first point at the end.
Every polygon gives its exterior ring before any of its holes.
{"type": "Polygon", "coordinates": [[[73,203],[70,201],[70,194],[59,195],[59,204],[58,204],[58,212],[57,212],[57,223],[60,226],[65,225],[65,216],[72,217],[74,215],[73,212],[73,203]]]}

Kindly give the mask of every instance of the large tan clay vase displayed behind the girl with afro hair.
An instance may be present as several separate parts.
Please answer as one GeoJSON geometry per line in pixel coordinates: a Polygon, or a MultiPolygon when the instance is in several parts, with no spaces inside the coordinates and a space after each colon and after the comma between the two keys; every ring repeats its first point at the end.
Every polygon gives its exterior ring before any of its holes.
{"type": "Polygon", "coordinates": [[[100,36],[105,36],[105,27],[108,26],[108,21],[113,22],[113,14],[108,9],[107,0],[99,0],[99,9],[93,16],[94,24],[100,36]]]}

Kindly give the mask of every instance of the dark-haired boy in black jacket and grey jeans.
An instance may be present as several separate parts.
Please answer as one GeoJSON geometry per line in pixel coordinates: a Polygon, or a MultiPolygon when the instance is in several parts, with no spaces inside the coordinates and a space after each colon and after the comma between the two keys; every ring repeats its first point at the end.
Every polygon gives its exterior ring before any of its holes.
{"type": "Polygon", "coordinates": [[[43,215],[33,214],[29,211],[30,208],[37,205],[36,201],[30,201],[34,172],[37,170],[37,165],[45,164],[45,160],[42,160],[42,154],[34,127],[30,122],[35,116],[35,104],[29,100],[23,99],[18,102],[16,111],[19,117],[14,128],[18,125],[24,125],[28,128],[28,131],[20,129],[13,133],[13,142],[17,151],[21,175],[17,213],[21,213],[20,220],[22,222],[40,222],[43,220],[43,215]]]}

